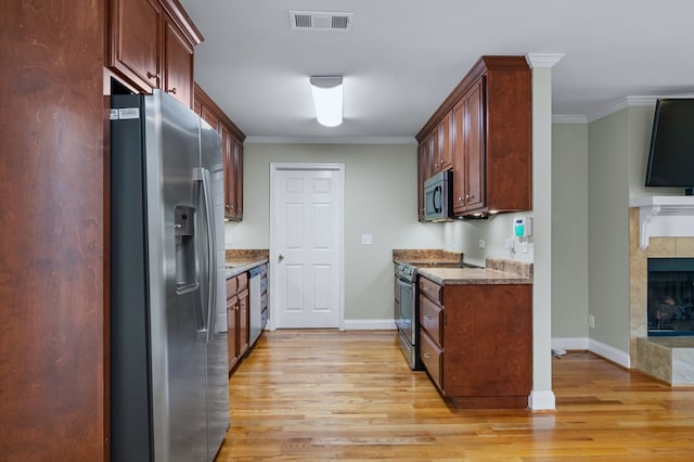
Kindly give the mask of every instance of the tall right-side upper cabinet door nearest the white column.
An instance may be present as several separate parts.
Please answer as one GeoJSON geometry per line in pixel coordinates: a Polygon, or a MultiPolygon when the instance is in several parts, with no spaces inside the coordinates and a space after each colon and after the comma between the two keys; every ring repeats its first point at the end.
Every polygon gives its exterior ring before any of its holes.
{"type": "Polygon", "coordinates": [[[465,102],[465,159],[467,190],[465,209],[485,206],[485,104],[484,77],[463,97],[465,102]]]}

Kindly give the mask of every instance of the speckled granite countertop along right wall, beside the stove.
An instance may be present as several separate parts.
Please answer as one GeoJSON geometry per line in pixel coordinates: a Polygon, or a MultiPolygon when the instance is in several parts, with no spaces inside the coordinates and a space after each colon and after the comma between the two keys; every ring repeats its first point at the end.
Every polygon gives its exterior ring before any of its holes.
{"type": "Polygon", "coordinates": [[[463,254],[446,251],[394,249],[393,260],[417,268],[417,273],[439,284],[532,284],[532,264],[487,258],[485,268],[466,265],[463,254]]]}

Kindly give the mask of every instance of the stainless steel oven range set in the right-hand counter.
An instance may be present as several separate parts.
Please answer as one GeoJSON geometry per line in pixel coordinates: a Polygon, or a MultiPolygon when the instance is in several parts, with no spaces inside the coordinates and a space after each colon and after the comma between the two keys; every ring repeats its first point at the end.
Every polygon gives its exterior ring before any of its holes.
{"type": "Polygon", "coordinates": [[[416,268],[395,264],[395,323],[400,349],[412,370],[421,370],[416,312],[416,268]]]}

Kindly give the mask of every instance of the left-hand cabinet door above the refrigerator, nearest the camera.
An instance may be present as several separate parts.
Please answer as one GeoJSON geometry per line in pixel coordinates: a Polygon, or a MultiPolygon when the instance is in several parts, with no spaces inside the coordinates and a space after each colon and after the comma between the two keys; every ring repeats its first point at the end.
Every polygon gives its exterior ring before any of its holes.
{"type": "Polygon", "coordinates": [[[162,7],[154,0],[113,0],[110,65],[143,91],[162,84],[162,7]]]}

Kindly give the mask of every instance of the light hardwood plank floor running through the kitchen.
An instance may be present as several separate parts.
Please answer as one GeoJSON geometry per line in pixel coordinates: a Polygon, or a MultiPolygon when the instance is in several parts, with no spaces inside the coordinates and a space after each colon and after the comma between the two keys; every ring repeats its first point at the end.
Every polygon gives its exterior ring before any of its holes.
{"type": "Polygon", "coordinates": [[[556,412],[457,411],[393,331],[265,332],[231,376],[217,461],[694,460],[694,387],[589,352],[552,365],[556,412]]]}

